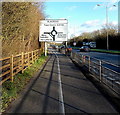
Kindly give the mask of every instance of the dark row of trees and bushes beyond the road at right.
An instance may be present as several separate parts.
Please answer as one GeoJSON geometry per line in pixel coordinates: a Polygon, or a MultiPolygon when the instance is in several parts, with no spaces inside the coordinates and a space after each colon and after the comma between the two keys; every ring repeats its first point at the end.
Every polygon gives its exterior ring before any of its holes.
{"type": "Polygon", "coordinates": [[[120,50],[120,34],[118,33],[118,27],[112,24],[106,28],[102,27],[101,30],[94,32],[85,32],[80,36],[73,37],[68,41],[68,45],[73,46],[73,42],[76,42],[76,47],[81,47],[83,42],[96,42],[96,49],[106,49],[107,47],[107,34],[109,39],[109,49],[110,50],[120,50]]]}

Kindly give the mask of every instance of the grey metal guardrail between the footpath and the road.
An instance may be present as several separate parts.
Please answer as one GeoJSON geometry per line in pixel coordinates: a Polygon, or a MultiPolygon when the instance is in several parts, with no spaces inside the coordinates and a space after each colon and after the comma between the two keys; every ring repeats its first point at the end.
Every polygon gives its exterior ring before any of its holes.
{"type": "Polygon", "coordinates": [[[83,64],[100,83],[104,83],[117,94],[120,94],[120,73],[108,67],[111,66],[119,69],[117,65],[73,51],[70,57],[77,63],[83,64]]]}

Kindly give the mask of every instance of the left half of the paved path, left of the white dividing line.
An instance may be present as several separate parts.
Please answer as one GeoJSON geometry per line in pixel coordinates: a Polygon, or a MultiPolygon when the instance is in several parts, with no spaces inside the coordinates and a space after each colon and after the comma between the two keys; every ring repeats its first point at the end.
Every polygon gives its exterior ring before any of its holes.
{"type": "Polygon", "coordinates": [[[25,95],[19,97],[7,113],[58,113],[59,93],[56,73],[56,60],[52,56],[44,70],[26,90],[25,95]],[[55,82],[56,81],[56,82],[55,82]],[[21,98],[21,99],[20,99],[21,98]]]}

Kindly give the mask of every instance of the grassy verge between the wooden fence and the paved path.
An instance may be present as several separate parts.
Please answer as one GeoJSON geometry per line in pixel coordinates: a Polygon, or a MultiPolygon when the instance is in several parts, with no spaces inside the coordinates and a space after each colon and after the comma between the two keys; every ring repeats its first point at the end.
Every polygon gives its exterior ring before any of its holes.
{"type": "Polygon", "coordinates": [[[14,76],[14,82],[6,81],[2,84],[2,95],[0,97],[2,100],[1,112],[4,112],[9,104],[18,97],[19,92],[25,88],[26,84],[44,64],[46,59],[47,57],[41,56],[31,67],[27,68],[23,74],[18,73],[14,76]]]}

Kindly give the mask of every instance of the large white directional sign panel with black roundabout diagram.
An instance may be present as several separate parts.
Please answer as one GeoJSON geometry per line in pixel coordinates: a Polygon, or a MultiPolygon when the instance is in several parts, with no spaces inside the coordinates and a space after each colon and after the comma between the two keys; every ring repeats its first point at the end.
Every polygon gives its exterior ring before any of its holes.
{"type": "Polygon", "coordinates": [[[39,41],[67,41],[68,22],[66,19],[41,20],[39,28],[39,41]]]}

